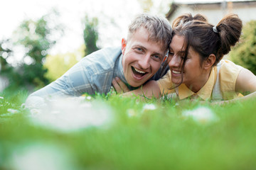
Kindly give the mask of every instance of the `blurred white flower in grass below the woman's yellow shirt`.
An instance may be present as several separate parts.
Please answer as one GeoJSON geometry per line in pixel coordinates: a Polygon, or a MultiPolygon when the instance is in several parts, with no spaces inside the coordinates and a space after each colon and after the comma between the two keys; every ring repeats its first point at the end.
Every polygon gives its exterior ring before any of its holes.
{"type": "Polygon", "coordinates": [[[215,115],[215,113],[213,113],[210,108],[207,108],[205,106],[195,108],[191,111],[183,111],[182,116],[185,118],[192,118],[193,120],[201,124],[213,123],[218,121],[218,116],[215,115]]]}

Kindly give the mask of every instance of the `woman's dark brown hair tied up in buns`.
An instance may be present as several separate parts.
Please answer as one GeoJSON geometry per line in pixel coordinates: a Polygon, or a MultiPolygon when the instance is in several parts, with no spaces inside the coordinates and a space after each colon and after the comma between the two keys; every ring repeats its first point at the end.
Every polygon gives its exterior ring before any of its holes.
{"type": "MultiPolygon", "coordinates": [[[[181,65],[183,70],[190,47],[193,47],[193,50],[200,55],[201,64],[211,54],[215,55],[213,66],[218,64],[223,56],[230,52],[230,47],[238,42],[242,30],[242,21],[238,18],[238,15],[230,14],[215,26],[214,31],[214,26],[208,23],[207,19],[201,14],[194,17],[191,14],[185,14],[176,18],[172,26],[173,37],[174,35],[183,36],[185,40],[183,44],[185,52],[182,56],[183,64],[181,65]]],[[[182,81],[183,76],[181,77],[181,83],[182,81]]]]}

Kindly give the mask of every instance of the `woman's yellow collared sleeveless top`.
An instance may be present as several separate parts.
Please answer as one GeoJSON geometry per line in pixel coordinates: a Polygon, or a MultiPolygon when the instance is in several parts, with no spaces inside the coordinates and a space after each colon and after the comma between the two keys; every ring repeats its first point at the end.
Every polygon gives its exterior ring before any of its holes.
{"type": "Polygon", "coordinates": [[[181,84],[175,89],[175,84],[171,82],[171,71],[166,73],[166,75],[157,81],[162,94],[168,94],[169,97],[177,97],[182,100],[184,98],[200,98],[203,100],[211,100],[213,94],[213,88],[215,86],[216,79],[218,77],[220,81],[220,93],[224,100],[230,100],[242,96],[241,94],[235,92],[235,82],[238,78],[242,67],[234,64],[230,60],[221,60],[218,64],[220,67],[219,72],[217,67],[213,67],[210,72],[210,77],[206,84],[197,93],[194,93],[185,84],[181,84]]]}

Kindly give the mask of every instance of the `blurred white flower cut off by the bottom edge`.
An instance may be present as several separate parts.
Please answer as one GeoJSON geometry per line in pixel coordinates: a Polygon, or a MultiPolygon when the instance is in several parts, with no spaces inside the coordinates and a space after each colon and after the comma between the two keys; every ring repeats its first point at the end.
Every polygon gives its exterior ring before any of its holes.
{"type": "Polygon", "coordinates": [[[74,169],[73,160],[58,146],[28,145],[15,150],[9,158],[9,169],[74,169]]]}

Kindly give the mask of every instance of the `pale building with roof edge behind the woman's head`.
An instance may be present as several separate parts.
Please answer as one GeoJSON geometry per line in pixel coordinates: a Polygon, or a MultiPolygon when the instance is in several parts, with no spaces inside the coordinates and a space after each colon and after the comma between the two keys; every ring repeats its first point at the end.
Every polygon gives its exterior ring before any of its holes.
{"type": "Polygon", "coordinates": [[[256,1],[174,1],[166,18],[172,23],[174,18],[183,13],[201,13],[208,18],[209,23],[216,25],[227,13],[235,13],[245,23],[256,20],[256,1]]]}

